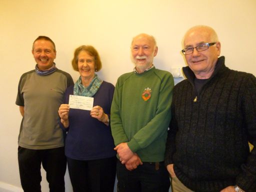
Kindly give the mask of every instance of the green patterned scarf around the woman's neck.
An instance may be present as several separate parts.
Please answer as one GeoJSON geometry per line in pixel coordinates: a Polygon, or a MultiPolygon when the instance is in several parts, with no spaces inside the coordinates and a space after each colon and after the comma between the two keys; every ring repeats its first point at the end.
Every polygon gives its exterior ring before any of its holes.
{"type": "Polygon", "coordinates": [[[89,86],[85,87],[81,83],[81,76],[79,76],[77,81],[74,83],[74,95],[92,97],[97,92],[101,83],[102,83],[102,80],[100,80],[98,76],[95,74],[89,86]]]}

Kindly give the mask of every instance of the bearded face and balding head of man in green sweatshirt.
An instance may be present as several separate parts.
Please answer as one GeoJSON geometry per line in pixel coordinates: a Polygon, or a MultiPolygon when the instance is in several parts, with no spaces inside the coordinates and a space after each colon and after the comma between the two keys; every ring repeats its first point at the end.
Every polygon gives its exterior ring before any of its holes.
{"type": "Polygon", "coordinates": [[[131,60],[138,72],[143,72],[153,64],[153,57],[157,54],[157,46],[152,36],[139,34],[131,43],[131,60]]]}

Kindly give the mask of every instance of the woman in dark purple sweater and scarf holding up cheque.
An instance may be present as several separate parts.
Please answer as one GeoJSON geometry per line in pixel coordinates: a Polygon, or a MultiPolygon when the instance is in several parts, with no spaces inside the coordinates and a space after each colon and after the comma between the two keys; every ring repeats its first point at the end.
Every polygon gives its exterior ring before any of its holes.
{"type": "Polygon", "coordinates": [[[67,131],[65,155],[73,191],[112,192],[116,153],[109,118],[114,86],[95,74],[101,61],[93,46],[77,47],[72,66],[80,77],[66,89],[58,114],[67,131]],[[70,108],[69,95],[93,97],[92,109],[70,108]]]}

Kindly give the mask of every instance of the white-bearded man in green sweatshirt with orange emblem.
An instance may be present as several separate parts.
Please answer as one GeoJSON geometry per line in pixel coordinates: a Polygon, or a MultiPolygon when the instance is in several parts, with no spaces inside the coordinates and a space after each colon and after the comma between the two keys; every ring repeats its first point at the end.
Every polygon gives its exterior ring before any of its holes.
{"type": "Polygon", "coordinates": [[[116,82],[110,123],[119,158],[119,192],[169,188],[163,160],[174,83],[169,72],[154,67],[156,54],[153,36],[135,36],[131,42],[134,70],[116,82]]]}

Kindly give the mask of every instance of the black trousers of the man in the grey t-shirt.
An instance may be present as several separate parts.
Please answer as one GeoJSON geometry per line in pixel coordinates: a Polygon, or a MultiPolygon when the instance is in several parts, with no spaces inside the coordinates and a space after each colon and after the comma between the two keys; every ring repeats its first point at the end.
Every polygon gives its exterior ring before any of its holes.
{"type": "Polygon", "coordinates": [[[64,192],[66,157],[64,147],[28,149],[18,146],[18,167],[24,192],[41,191],[41,164],[46,171],[50,192],[64,192]]]}

